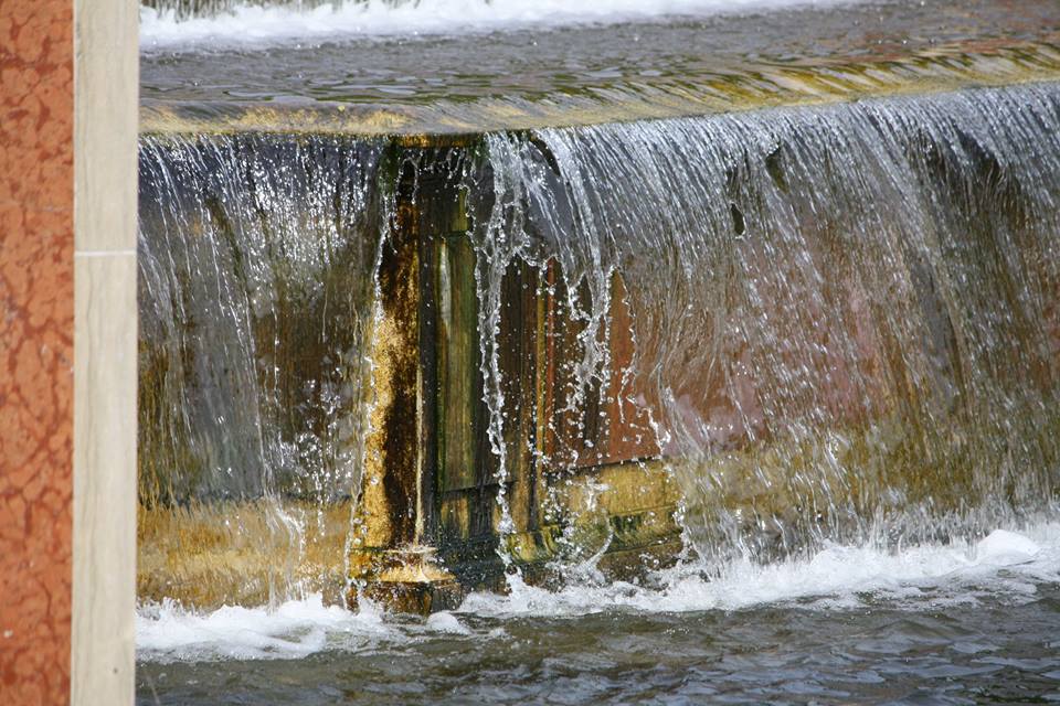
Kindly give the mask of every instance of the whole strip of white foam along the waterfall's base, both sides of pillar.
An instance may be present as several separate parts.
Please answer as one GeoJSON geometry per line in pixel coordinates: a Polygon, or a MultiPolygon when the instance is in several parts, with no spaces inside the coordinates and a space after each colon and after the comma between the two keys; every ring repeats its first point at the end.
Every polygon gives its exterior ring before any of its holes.
{"type": "Polygon", "coordinates": [[[468,621],[473,616],[504,620],[792,603],[810,610],[881,603],[922,610],[987,598],[1031,600],[1042,581],[1060,581],[1060,523],[1041,523],[1020,532],[997,530],[979,542],[898,552],[836,545],[809,559],[765,566],[735,561],[713,578],[695,566],[682,566],[654,579],[653,587],[646,587],[594,584],[586,578],[584,585],[556,592],[513,580],[510,595],[473,593],[459,610],[439,612],[426,621],[389,618],[370,603],[352,613],[325,606],[319,595],[276,609],[225,607],[212,612],[184,610],[167,601],[138,611],[137,655],[155,662],[298,659],[322,650],[361,652],[476,631],[483,637],[505,634],[496,623],[468,621]]]}

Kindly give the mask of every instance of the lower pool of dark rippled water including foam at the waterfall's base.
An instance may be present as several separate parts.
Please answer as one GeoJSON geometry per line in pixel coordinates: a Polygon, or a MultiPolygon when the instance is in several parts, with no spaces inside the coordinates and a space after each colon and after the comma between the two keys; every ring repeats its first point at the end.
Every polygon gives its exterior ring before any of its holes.
{"type": "Polygon", "coordinates": [[[138,641],[140,704],[1052,703],[1060,524],[649,585],[586,571],[426,620],[141,607],[138,641]]]}

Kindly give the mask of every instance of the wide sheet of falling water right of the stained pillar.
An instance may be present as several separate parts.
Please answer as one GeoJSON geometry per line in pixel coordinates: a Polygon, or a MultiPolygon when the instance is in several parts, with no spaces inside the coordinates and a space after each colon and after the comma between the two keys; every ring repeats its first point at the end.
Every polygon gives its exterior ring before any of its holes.
{"type": "Polygon", "coordinates": [[[523,261],[562,272],[580,322],[565,462],[597,462],[592,417],[635,406],[706,559],[974,534],[1056,501],[1056,86],[487,145],[467,179],[488,194],[473,237],[495,448],[511,403],[488,363],[523,261]],[[635,342],[617,372],[616,291],[635,342]]]}

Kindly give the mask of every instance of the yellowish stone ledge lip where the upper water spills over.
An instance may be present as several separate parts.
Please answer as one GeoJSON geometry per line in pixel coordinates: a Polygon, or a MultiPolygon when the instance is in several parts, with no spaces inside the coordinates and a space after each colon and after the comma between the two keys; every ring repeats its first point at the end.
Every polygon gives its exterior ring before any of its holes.
{"type": "Polygon", "coordinates": [[[1057,79],[1060,38],[1040,42],[994,39],[859,62],[824,58],[749,64],[738,75],[697,77],[680,86],[646,84],[636,94],[607,98],[586,90],[548,101],[479,98],[392,106],[145,101],[140,132],[342,133],[394,137],[405,147],[455,147],[473,142],[481,132],[692,117],[1057,79]]]}

